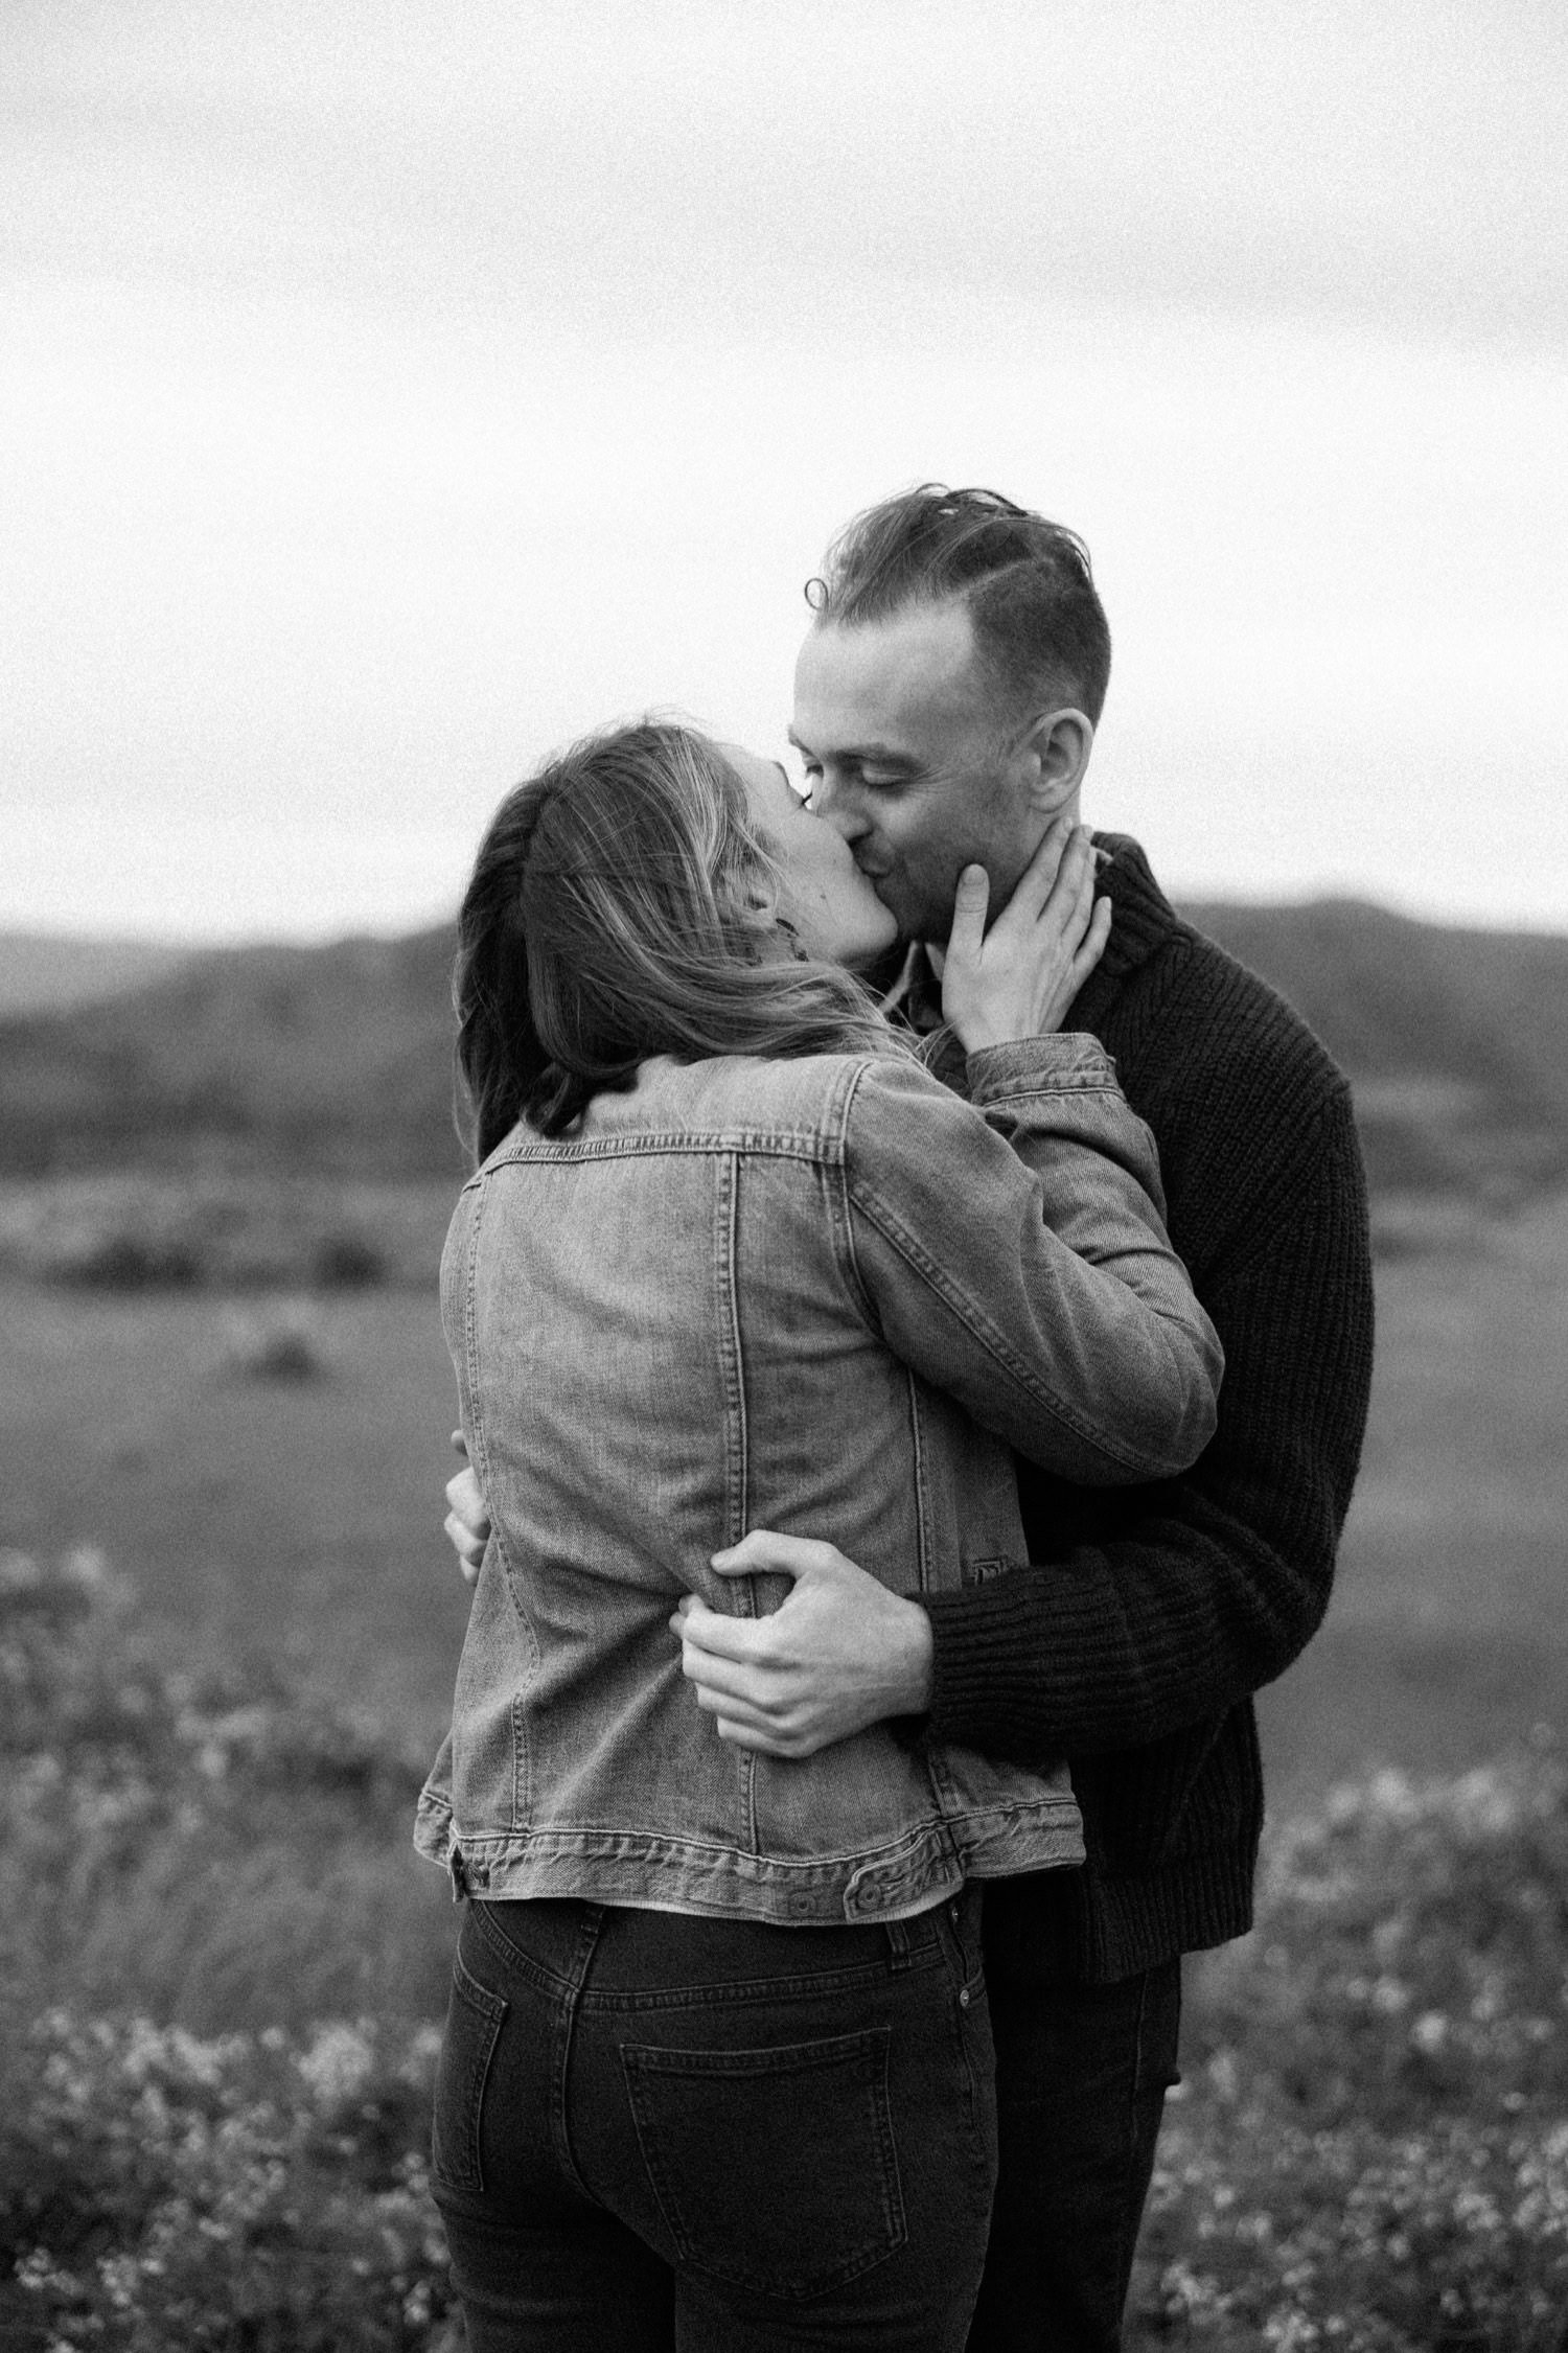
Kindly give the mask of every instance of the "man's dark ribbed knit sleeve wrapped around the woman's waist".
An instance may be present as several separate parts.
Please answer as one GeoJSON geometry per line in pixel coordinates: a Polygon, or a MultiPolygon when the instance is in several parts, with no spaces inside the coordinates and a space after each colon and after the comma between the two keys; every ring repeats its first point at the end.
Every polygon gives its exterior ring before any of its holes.
{"type": "Polygon", "coordinates": [[[1144,1746],[1260,1689],[1316,1631],[1373,1367],[1349,1092],[1337,1087],[1295,1141],[1203,1278],[1227,1358],[1203,1459],[1118,1497],[1102,1541],[989,1586],[923,1595],[937,1739],[1010,1760],[1144,1746]]]}

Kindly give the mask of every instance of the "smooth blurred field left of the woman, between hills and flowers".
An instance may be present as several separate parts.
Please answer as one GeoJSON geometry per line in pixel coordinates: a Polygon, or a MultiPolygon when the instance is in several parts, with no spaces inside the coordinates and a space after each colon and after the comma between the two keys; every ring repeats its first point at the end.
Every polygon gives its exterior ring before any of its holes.
{"type": "Polygon", "coordinates": [[[101,1546],[188,1666],[290,1675],[431,1741],[466,1588],[440,1534],[452,1369],[431,1289],[0,1292],[0,1544],[101,1546]],[[254,1369],[306,1337],[306,1377],[254,1369]]]}

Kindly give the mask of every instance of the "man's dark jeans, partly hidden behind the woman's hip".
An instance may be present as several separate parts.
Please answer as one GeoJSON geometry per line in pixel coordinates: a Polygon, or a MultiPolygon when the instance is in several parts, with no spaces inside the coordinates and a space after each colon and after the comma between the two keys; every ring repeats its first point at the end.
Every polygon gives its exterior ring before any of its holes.
{"type": "Polygon", "coordinates": [[[1083,1986],[1026,1904],[1024,1882],[986,1894],[1001,2172],[970,2353],[1116,2353],[1180,2080],[1182,1962],[1083,1986]]]}

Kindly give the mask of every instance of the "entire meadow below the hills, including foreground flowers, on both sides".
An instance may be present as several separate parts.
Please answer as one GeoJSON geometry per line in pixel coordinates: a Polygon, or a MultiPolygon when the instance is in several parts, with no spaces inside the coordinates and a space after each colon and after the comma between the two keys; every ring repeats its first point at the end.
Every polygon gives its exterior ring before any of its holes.
{"type": "MultiPolygon", "coordinates": [[[[104,1273],[0,1278],[0,2348],[454,2353],[452,1908],[407,1845],[466,1609],[433,1292],[104,1273]]],[[[1264,1694],[1262,1918],[1194,1972],[1140,2353],[1563,2353],[1566,1311],[1568,1200],[1380,1264],[1340,1593],[1264,1694]]]]}

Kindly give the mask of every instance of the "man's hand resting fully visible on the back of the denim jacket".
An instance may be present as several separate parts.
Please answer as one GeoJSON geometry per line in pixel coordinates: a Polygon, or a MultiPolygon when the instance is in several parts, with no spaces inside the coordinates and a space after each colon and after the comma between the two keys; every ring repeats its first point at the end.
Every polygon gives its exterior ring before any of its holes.
{"type": "Polygon", "coordinates": [[[737,1748],[810,1758],[888,1715],[930,1706],[930,1619],[831,1544],[753,1527],[720,1577],[796,1579],[772,1617],[732,1619],[687,1593],[671,1619],[697,1706],[737,1748]]]}

